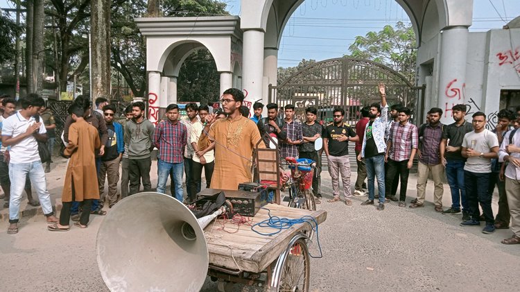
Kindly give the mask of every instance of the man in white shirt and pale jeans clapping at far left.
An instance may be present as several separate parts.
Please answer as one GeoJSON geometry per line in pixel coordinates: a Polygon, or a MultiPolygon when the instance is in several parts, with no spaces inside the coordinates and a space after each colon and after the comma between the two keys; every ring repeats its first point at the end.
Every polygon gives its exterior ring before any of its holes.
{"type": "Polygon", "coordinates": [[[20,101],[19,112],[3,121],[2,145],[10,146],[9,178],[11,180],[11,196],[9,200],[8,234],[18,233],[18,221],[21,193],[24,191],[26,176],[40,198],[42,209],[48,223],[58,222],[53,214],[51,196],[47,191],[45,173],[38,153],[37,141],[46,141],[46,130],[42,122],[37,123],[33,117],[45,104],[41,97],[27,97],[20,101]]]}

